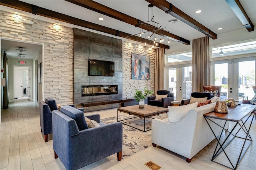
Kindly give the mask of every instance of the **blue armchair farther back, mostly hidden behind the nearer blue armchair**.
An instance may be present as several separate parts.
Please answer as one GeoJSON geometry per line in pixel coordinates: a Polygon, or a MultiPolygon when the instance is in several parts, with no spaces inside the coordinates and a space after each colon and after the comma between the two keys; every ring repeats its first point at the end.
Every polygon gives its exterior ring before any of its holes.
{"type": "MultiPolygon", "coordinates": [[[[40,126],[41,132],[44,134],[44,141],[48,141],[48,134],[52,133],[52,111],[58,110],[56,101],[53,98],[45,98],[39,101],[39,115],[40,115],[40,126]]],[[[75,105],[70,105],[75,107],[75,105]]],[[[83,113],[84,109],[79,108],[83,113]]]]}

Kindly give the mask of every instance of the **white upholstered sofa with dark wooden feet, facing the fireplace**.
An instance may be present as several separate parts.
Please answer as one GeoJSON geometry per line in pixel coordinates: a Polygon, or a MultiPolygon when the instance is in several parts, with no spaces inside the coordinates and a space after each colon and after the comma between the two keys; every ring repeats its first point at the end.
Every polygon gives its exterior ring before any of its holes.
{"type": "MultiPolygon", "coordinates": [[[[203,115],[214,110],[216,103],[190,109],[186,116],[177,122],[169,122],[166,119],[152,119],[152,145],[159,145],[172,152],[186,157],[188,163],[191,162],[200,150],[215,139],[209,125],[203,115]]],[[[176,106],[182,107],[182,106],[176,106]]],[[[169,113],[171,114],[171,113],[169,113]]],[[[220,122],[223,126],[225,121],[214,120],[220,122]]],[[[228,129],[227,122],[225,128],[228,129]]],[[[220,135],[222,128],[211,123],[214,132],[220,135]]]]}

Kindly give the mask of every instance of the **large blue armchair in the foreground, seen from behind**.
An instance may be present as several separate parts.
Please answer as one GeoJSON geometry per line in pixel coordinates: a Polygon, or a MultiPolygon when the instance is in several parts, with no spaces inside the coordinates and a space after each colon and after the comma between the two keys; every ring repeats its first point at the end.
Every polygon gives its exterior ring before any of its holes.
{"type": "Polygon", "coordinates": [[[100,123],[100,115],[86,116],[99,127],[88,128],[84,113],[70,106],[52,112],[54,157],[60,158],[67,170],[77,170],[117,153],[122,159],[122,123],[100,123]]]}

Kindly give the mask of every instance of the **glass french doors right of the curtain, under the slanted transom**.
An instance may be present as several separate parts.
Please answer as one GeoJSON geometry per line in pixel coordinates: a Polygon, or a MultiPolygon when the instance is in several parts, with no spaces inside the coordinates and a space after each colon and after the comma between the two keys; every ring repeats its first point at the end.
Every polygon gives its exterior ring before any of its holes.
{"type": "Polygon", "coordinates": [[[221,98],[250,100],[254,96],[256,57],[211,61],[210,85],[221,85],[221,98]]]}

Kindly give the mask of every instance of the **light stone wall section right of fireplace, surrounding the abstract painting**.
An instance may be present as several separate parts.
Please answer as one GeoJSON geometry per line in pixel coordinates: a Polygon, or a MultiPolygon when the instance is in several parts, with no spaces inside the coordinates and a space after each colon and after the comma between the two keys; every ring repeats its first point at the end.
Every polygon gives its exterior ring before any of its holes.
{"type": "Polygon", "coordinates": [[[155,85],[155,49],[123,41],[123,98],[132,98],[135,94],[135,89],[144,90],[147,87],[154,91],[155,85]],[[132,53],[146,55],[150,57],[150,79],[135,80],[132,79],[132,53]]]}

